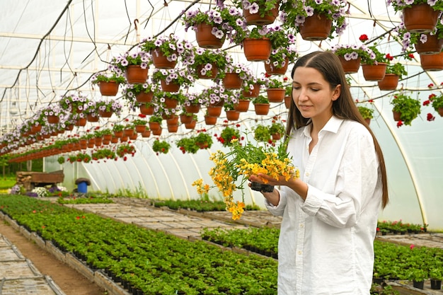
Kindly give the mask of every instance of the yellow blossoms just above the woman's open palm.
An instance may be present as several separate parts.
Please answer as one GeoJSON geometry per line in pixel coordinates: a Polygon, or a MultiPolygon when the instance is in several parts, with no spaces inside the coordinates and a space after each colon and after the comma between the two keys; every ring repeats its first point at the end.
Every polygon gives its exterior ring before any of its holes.
{"type": "MultiPolygon", "coordinates": [[[[299,177],[299,175],[297,176],[299,170],[295,171],[289,158],[284,158],[282,161],[275,153],[266,153],[265,155],[266,158],[263,159],[261,163],[248,163],[245,158],[242,158],[238,165],[240,174],[249,176],[263,173],[275,179],[278,179],[280,175],[282,175],[285,180],[289,180],[289,178],[292,178],[294,175],[296,178],[299,177]]],[[[263,183],[267,183],[267,180],[263,179],[263,183]]]]}

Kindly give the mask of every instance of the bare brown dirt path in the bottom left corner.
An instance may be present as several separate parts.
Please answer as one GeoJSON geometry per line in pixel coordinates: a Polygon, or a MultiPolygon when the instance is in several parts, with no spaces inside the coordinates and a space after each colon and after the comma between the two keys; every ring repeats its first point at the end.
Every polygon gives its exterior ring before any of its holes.
{"type": "Polygon", "coordinates": [[[0,222],[0,233],[16,245],[18,250],[33,262],[35,267],[45,275],[52,277],[54,282],[67,295],[104,295],[105,290],[88,281],[82,274],[73,270],[69,265],[54,258],[38,245],[26,239],[11,226],[0,222]]]}

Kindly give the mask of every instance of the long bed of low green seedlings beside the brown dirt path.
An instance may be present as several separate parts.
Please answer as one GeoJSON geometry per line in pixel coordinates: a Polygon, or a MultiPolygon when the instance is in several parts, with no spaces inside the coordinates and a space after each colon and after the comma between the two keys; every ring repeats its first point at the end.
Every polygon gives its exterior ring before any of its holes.
{"type": "Polygon", "coordinates": [[[132,294],[276,294],[277,262],[221,250],[40,199],[1,196],[1,212],[132,294]]]}

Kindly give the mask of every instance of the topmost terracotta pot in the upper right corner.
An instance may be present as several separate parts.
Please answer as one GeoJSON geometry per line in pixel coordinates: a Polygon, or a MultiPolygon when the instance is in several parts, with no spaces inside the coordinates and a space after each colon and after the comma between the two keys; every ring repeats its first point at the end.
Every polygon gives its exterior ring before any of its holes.
{"type": "Polygon", "coordinates": [[[430,33],[437,25],[439,11],[429,4],[413,4],[403,8],[403,23],[410,33],[430,33]]]}

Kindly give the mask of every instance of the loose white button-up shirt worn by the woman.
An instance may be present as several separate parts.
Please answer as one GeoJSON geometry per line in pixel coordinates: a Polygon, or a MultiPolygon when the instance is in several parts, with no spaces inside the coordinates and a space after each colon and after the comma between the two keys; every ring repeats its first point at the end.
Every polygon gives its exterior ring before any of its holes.
{"type": "Polygon", "coordinates": [[[279,295],[369,295],[381,175],[374,141],[358,122],[331,117],[309,154],[311,125],[293,132],[288,151],[308,184],[304,201],[288,187],[277,206],[279,295]]]}

